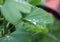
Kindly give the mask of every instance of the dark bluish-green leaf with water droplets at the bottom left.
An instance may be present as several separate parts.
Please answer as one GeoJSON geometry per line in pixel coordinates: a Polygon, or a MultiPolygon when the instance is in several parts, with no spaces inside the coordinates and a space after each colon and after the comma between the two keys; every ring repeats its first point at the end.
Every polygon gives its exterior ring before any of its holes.
{"type": "MultiPolygon", "coordinates": [[[[18,27],[17,27],[18,28],[18,27]]],[[[22,29],[16,30],[11,35],[6,35],[0,38],[0,42],[31,42],[32,35],[29,32],[23,31],[22,29]]]]}

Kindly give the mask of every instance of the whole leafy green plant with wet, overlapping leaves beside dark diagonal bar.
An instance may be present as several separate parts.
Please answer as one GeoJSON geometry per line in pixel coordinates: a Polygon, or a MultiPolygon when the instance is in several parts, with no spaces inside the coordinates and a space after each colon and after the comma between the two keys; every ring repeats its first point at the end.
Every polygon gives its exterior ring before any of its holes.
{"type": "Polygon", "coordinates": [[[54,19],[36,7],[41,0],[0,1],[0,42],[41,42],[54,19]]]}

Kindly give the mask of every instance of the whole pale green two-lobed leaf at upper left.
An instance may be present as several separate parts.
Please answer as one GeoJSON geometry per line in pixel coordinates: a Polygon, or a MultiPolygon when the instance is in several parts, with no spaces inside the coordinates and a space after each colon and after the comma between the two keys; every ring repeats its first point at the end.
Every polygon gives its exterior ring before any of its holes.
{"type": "Polygon", "coordinates": [[[17,24],[18,21],[22,18],[21,13],[29,13],[31,11],[30,4],[18,0],[6,0],[5,4],[1,8],[3,16],[12,24],[17,24]]]}

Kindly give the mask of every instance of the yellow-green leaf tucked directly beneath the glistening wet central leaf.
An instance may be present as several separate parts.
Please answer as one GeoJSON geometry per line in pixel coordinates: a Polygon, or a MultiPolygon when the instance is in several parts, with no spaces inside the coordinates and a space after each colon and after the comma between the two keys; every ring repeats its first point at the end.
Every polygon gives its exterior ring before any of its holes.
{"type": "Polygon", "coordinates": [[[37,27],[37,26],[35,26],[35,25],[33,25],[32,23],[29,23],[29,22],[24,23],[24,28],[25,28],[26,31],[29,31],[29,32],[32,32],[32,33],[41,33],[42,32],[42,30],[39,27],[37,27]]]}

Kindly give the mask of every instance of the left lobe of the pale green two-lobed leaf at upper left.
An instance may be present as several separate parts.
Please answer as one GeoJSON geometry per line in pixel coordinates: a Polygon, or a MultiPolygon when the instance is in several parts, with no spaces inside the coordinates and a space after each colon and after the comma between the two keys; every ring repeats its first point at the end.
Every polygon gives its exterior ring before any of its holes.
{"type": "Polygon", "coordinates": [[[17,24],[22,18],[21,13],[8,3],[4,4],[4,6],[1,8],[1,11],[6,20],[14,25],[17,24]]]}

